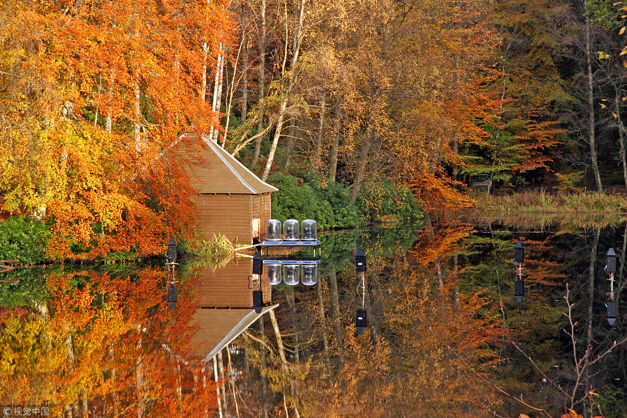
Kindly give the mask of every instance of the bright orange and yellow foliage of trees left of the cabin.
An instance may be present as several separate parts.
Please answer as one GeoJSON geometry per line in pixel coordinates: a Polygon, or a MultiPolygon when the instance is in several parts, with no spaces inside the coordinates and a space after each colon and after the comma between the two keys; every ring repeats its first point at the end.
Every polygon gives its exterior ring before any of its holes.
{"type": "Polygon", "coordinates": [[[0,3],[0,194],[3,209],[47,216],[49,256],[160,251],[189,230],[187,174],[159,158],[206,102],[222,3],[0,3]]]}

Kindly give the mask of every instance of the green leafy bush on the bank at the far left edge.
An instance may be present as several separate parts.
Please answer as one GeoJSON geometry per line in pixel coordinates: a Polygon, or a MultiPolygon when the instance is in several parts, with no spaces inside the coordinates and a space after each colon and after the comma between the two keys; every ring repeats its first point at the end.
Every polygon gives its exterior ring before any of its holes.
{"type": "Polygon", "coordinates": [[[0,259],[41,263],[46,258],[49,237],[50,231],[43,222],[24,216],[10,217],[0,223],[0,259]]]}

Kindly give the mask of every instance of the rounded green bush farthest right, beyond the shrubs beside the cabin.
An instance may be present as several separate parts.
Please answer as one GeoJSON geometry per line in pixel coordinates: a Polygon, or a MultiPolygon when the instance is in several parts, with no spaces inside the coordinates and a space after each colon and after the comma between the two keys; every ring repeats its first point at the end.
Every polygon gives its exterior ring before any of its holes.
{"type": "Polygon", "coordinates": [[[394,215],[398,219],[421,219],[422,212],[410,189],[386,177],[366,180],[359,189],[357,206],[367,219],[380,220],[394,215]]]}

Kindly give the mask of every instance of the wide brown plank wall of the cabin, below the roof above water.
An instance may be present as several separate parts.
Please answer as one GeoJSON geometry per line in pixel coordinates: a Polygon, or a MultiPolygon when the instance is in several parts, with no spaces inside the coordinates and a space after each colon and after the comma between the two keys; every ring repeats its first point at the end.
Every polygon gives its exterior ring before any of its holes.
{"type": "Polygon", "coordinates": [[[203,240],[222,233],[231,242],[252,242],[252,196],[250,194],[199,194],[196,210],[203,240]]]}

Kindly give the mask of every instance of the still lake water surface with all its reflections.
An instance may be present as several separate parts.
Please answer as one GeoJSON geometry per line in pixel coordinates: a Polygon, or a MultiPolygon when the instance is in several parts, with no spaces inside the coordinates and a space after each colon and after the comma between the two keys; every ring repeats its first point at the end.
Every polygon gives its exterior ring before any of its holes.
{"type": "Polygon", "coordinates": [[[266,284],[261,316],[249,258],[178,265],[175,309],[161,261],[3,273],[20,282],[0,284],[0,405],[5,416],[627,416],[627,350],[612,348],[627,337],[625,226],[426,225],[320,234],[317,284],[272,286],[271,300],[266,284]]]}

